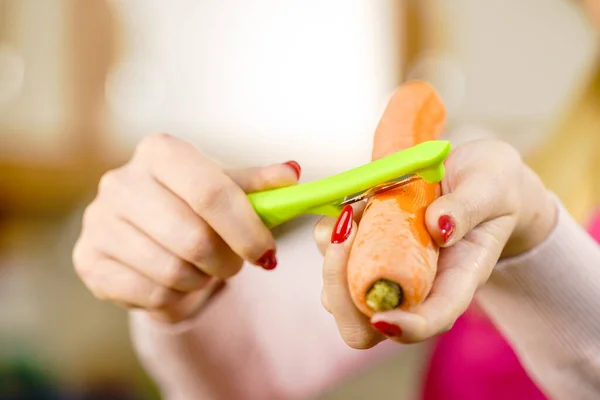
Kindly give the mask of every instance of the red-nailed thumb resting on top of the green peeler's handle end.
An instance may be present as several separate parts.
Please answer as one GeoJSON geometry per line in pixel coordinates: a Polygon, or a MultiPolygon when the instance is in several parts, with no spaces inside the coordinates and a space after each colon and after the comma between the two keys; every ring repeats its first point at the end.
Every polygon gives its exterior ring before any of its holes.
{"type": "Polygon", "coordinates": [[[226,174],[246,193],[276,189],[298,183],[302,169],[296,161],[266,167],[226,171],[226,174]]]}

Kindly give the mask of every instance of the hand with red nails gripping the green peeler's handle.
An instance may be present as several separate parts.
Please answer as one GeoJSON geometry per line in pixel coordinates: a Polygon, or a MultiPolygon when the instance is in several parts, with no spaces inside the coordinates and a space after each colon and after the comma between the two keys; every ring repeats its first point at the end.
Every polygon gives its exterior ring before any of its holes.
{"type": "Polygon", "coordinates": [[[190,144],[152,135],[106,173],[83,216],[75,269],[99,299],[184,320],[247,260],[277,265],[246,193],[295,184],[295,162],[225,171],[190,144]]]}

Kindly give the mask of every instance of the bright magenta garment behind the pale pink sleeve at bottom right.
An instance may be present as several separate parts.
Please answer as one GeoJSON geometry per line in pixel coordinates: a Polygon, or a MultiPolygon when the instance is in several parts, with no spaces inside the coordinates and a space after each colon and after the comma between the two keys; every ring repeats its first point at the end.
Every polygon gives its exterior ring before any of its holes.
{"type": "MultiPolygon", "coordinates": [[[[600,213],[592,219],[589,229],[600,243],[600,213]]],[[[422,400],[546,398],[476,302],[449,332],[436,340],[422,400]]]]}

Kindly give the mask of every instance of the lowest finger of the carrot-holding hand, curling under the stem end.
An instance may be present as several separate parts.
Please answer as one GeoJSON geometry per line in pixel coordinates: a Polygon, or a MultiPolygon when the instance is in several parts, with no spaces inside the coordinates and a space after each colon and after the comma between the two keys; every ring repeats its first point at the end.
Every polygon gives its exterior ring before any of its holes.
{"type": "Polygon", "coordinates": [[[454,246],[442,249],[438,275],[427,299],[413,312],[393,310],[373,316],[400,328],[395,339],[421,342],[449,330],[466,311],[477,289],[489,278],[510,235],[513,221],[485,222],[454,246]]]}

